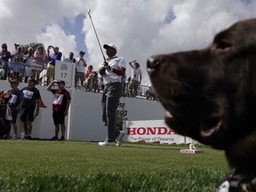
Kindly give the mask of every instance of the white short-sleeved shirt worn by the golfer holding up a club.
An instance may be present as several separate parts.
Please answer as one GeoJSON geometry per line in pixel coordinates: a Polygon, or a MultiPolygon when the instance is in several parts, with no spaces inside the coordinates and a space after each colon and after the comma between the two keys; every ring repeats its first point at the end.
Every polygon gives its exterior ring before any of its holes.
{"type": "MultiPolygon", "coordinates": [[[[123,57],[114,56],[108,60],[108,65],[111,68],[126,68],[126,62],[123,57]]],[[[100,68],[104,66],[104,63],[100,63],[100,68]]],[[[114,72],[108,72],[103,75],[103,84],[110,84],[115,82],[122,82],[122,76],[116,75],[114,72]]]]}

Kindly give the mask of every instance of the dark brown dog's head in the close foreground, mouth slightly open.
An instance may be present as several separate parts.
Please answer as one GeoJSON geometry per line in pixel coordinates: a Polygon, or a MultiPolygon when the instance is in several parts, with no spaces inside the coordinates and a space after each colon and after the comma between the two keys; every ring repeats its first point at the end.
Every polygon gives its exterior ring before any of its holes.
{"type": "MultiPolygon", "coordinates": [[[[220,32],[204,50],[152,56],[148,73],[175,132],[226,151],[252,140],[256,19],[220,32]]],[[[251,144],[256,148],[256,141],[251,144]]]]}

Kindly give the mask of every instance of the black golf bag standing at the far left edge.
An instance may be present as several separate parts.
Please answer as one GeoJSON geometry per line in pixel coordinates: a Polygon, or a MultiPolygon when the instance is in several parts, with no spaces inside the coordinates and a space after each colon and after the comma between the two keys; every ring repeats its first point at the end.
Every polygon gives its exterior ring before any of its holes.
{"type": "Polygon", "coordinates": [[[0,139],[6,138],[11,130],[11,120],[8,118],[8,100],[10,100],[10,94],[4,94],[0,92],[0,139]],[[7,118],[6,118],[7,117],[7,118]]]}

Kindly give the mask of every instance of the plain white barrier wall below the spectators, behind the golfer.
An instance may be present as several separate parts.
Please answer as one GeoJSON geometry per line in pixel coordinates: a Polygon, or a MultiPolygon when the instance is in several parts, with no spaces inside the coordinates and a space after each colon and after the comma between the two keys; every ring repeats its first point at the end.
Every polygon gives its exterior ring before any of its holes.
{"type": "MultiPolygon", "coordinates": [[[[27,84],[19,84],[23,88],[27,84]]],[[[46,87],[36,85],[41,93],[42,100],[47,108],[41,108],[34,122],[33,138],[50,139],[54,134],[52,120],[52,93],[46,91],[46,87]]],[[[10,90],[8,81],[0,80],[0,90],[10,90]]],[[[68,90],[70,91],[70,90],[68,90]]],[[[71,106],[69,116],[66,117],[67,138],[69,140],[99,141],[105,140],[107,128],[101,121],[101,94],[94,92],[81,92],[71,90],[71,106]]],[[[142,100],[123,97],[120,100],[118,110],[125,109],[125,120],[139,121],[163,119],[164,108],[155,100],[142,100]]],[[[23,132],[20,115],[17,119],[18,130],[23,132]]],[[[13,132],[11,132],[13,135],[13,132]]],[[[20,136],[20,133],[19,135],[20,136]]]]}

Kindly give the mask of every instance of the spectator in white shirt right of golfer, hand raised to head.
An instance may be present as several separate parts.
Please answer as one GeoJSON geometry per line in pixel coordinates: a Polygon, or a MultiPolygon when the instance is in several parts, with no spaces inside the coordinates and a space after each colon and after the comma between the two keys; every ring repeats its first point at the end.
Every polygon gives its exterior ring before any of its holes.
{"type": "Polygon", "coordinates": [[[132,84],[131,84],[131,96],[136,97],[138,95],[138,88],[141,84],[142,72],[140,70],[140,64],[136,60],[129,62],[132,68],[132,84]]]}

